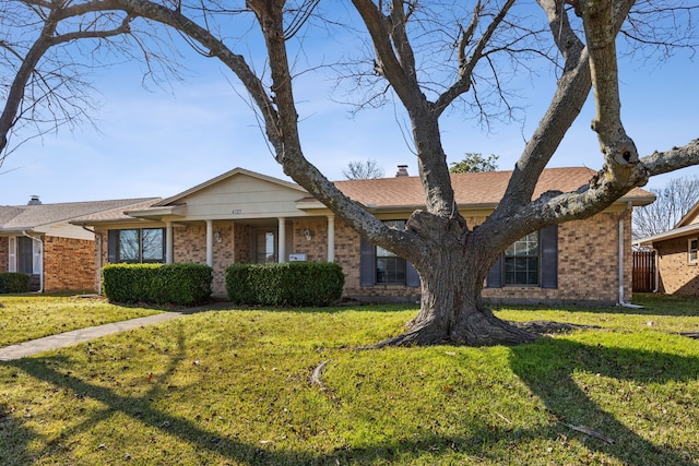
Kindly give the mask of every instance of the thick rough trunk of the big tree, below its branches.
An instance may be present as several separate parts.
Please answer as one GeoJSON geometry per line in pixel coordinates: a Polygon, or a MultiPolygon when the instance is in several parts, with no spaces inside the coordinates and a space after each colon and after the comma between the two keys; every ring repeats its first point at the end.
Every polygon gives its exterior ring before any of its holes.
{"type": "Polygon", "coordinates": [[[417,316],[408,323],[407,332],[376,347],[512,345],[536,339],[537,335],[496,318],[483,302],[482,289],[494,247],[469,240],[466,237],[473,235],[459,228],[457,219],[441,219],[439,224],[449,227],[425,228],[423,223],[417,228],[423,234],[436,232],[430,235],[434,243],[429,256],[414,262],[422,279],[417,316]]]}

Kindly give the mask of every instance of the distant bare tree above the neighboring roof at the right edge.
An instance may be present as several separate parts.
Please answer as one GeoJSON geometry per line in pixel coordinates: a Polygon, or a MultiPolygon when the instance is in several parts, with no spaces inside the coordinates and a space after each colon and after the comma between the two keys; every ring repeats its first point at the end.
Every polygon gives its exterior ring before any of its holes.
{"type": "Polygon", "coordinates": [[[699,177],[671,179],[663,188],[651,189],[655,202],[633,208],[633,238],[667,231],[699,202],[699,177]]]}

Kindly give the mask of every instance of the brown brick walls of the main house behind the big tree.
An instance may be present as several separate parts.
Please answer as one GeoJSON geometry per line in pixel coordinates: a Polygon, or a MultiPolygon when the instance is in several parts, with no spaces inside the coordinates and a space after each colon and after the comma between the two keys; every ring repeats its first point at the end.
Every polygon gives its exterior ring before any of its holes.
{"type": "MultiPolygon", "coordinates": [[[[485,288],[484,298],[493,301],[520,302],[595,302],[618,301],[618,218],[619,213],[599,214],[585,220],[562,224],[558,227],[558,288],[537,287],[485,288]]],[[[477,225],[484,217],[470,217],[470,225],[477,225]]],[[[631,298],[631,225],[630,215],[624,220],[625,300],[631,298]]],[[[225,268],[233,263],[251,262],[252,228],[233,222],[214,222],[214,231],[222,241],[214,240],[215,296],[225,296],[225,268]]],[[[296,219],[286,227],[287,253],[305,253],[308,261],[325,261],[328,258],[328,220],[296,219]],[[306,230],[311,239],[306,238],[306,230]],[[289,249],[291,248],[291,249],[289,249]]],[[[106,231],[104,231],[106,238],[106,231]]],[[[341,220],[335,220],[335,262],[345,273],[345,296],[360,298],[419,299],[419,288],[381,285],[360,286],[360,237],[341,220]]],[[[103,263],[106,263],[103,248],[103,263]]],[[[206,226],[204,223],[180,225],[174,229],[175,262],[206,263],[206,226]]]]}

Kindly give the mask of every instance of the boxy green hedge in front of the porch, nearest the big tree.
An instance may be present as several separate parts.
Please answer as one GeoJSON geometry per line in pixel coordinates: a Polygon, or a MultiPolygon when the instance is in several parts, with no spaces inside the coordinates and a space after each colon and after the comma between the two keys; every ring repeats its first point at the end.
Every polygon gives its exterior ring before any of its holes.
{"type": "Polygon", "coordinates": [[[342,297],[345,276],[331,262],[234,264],[226,292],[237,304],[329,306],[342,297]]]}

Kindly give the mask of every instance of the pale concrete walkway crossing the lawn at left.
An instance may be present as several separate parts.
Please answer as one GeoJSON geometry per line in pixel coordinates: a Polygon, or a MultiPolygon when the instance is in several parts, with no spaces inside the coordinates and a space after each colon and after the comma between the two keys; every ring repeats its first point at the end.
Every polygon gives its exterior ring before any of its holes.
{"type": "Polygon", "coordinates": [[[44,338],[32,339],[29,342],[20,343],[12,346],[0,348],[0,361],[11,361],[15,359],[26,358],[39,353],[49,351],[51,349],[63,348],[76,343],[86,342],[88,339],[98,338],[117,332],[125,332],[131,328],[139,328],[144,325],[151,325],[158,322],[167,322],[182,315],[193,314],[196,312],[210,311],[214,309],[225,309],[224,304],[202,306],[200,308],[191,308],[183,311],[168,311],[159,314],[146,315],[145,318],[131,319],[122,322],[114,322],[110,324],[96,325],[86,328],[73,330],[70,332],[59,333],[58,335],[45,336],[44,338]]]}

